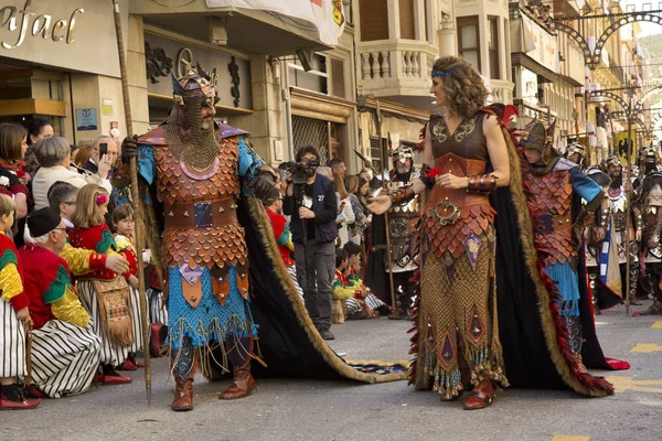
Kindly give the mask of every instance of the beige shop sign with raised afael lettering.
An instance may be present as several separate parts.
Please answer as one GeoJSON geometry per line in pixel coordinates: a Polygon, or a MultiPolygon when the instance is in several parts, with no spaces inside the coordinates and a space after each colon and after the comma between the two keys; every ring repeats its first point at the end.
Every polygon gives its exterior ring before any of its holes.
{"type": "MultiPolygon", "coordinates": [[[[128,22],[128,0],[120,0],[128,22]]],[[[0,56],[119,77],[113,3],[99,0],[0,2],[0,56]]]]}

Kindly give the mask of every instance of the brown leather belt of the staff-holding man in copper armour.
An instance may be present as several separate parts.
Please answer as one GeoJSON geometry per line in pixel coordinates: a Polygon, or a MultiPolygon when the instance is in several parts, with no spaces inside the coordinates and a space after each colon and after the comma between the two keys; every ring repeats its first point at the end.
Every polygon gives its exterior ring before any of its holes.
{"type": "Polygon", "coordinates": [[[234,197],[209,202],[166,204],[166,228],[188,229],[236,224],[236,209],[234,197]]]}

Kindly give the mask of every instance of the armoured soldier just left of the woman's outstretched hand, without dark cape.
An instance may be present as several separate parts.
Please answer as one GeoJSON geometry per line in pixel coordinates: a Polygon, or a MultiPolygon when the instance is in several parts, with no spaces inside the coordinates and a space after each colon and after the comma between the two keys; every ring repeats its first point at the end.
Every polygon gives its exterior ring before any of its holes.
{"type": "MultiPolygon", "coordinates": [[[[410,148],[399,144],[393,149],[393,170],[388,174],[388,194],[412,185],[418,176],[414,168],[414,152],[410,148]]],[[[416,284],[409,280],[418,268],[417,246],[418,198],[403,202],[388,211],[388,233],[391,235],[391,254],[393,266],[393,287],[395,289],[395,306],[391,319],[407,319],[416,291],[416,284]]],[[[388,271],[388,256],[384,257],[388,271]]]]}

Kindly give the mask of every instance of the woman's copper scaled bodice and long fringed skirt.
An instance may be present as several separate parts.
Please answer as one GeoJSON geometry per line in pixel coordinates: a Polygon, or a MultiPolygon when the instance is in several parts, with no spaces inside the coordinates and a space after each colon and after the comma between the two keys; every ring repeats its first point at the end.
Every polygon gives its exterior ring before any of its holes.
{"type": "MultiPolygon", "coordinates": [[[[435,166],[456,176],[485,173],[489,160],[482,132],[484,112],[465,118],[453,133],[444,117],[430,118],[435,166]]],[[[434,185],[421,217],[420,293],[415,321],[418,335],[412,381],[449,400],[465,385],[485,379],[506,387],[496,319],[494,209],[485,193],[434,185]]]]}

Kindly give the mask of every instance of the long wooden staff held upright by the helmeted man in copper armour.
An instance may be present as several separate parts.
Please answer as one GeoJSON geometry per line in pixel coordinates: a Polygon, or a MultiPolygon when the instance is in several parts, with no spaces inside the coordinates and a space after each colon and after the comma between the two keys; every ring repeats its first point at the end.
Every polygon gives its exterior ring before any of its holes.
{"type": "MultiPolygon", "coordinates": [[[[115,8],[115,34],[117,36],[117,52],[119,56],[119,72],[121,75],[121,96],[124,99],[127,133],[134,133],[131,123],[131,104],[129,101],[129,84],[127,79],[127,61],[125,57],[124,36],[121,33],[121,15],[119,14],[119,0],[113,0],[115,8]]],[[[138,191],[138,166],[136,158],[131,158],[131,198],[136,212],[136,249],[138,257],[138,292],[140,293],[140,315],[142,324],[142,358],[145,361],[145,390],[147,405],[151,406],[151,359],[149,356],[149,315],[147,313],[147,294],[145,293],[145,268],[142,266],[142,249],[145,248],[145,217],[138,191]]],[[[135,336],[137,338],[138,336],[135,336]]]]}

